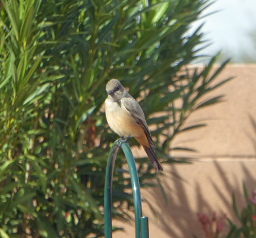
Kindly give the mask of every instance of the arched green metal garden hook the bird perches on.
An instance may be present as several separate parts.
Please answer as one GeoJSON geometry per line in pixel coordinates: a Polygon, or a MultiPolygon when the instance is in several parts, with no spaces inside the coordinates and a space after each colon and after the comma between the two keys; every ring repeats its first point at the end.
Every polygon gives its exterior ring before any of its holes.
{"type": "Polygon", "coordinates": [[[105,238],[112,238],[112,181],[115,167],[116,155],[119,148],[124,151],[127,158],[129,173],[131,175],[132,194],[134,199],[134,213],[135,213],[135,238],[149,237],[149,223],[147,217],[142,217],[140,183],[138,181],[138,172],[135,165],[134,157],[129,148],[128,143],[123,139],[118,139],[113,143],[109,152],[109,159],[107,161],[106,179],[104,187],[104,228],[105,238]]]}

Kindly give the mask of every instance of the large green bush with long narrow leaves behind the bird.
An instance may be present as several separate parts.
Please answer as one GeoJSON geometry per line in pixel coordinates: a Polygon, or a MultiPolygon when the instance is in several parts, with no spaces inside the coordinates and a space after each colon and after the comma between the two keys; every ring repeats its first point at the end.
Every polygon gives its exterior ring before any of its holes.
{"type": "MultiPolygon", "coordinates": [[[[159,157],[178,162],[168,156],[171,140],[203,126],[183,124],[191,112],[220,101],[202,96],[228,80],[214,83],[227,63],[212,73],[218,56],[202,70],[186,68],[202,39],[199,29],[192,35],[187,30],[207,5],[0,0],[1,237],[103,235],[104,170],[117,137],[101,109],[109,79],[128,86],[156,125],[159,157]]],[[[124,162],[119,155],[113,213],[128,220],[132,196],[124,162]]],[[[139,162],[141,186],[152,186],[156,174],[148,160],[139,162]]]]}

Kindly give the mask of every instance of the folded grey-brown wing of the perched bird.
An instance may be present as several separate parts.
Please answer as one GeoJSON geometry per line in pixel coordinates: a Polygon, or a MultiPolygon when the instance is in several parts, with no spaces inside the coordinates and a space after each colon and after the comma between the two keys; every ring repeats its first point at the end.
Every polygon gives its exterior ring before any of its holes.
{"type": "Polygon", "coordinates": [[[154,142],[152,140],[149,127],[147,126],[146,120],[145,120],[145,115],[143,110],[141,109],[140,105],[138,102],[130,97],[130,98],[122,98],[121,100],[122,105],[129,111],[131,116],[135,119],[136,123],[138,123],[144,130],[147,140],[149,140],[150,145],[155,146],[154,142]]]}

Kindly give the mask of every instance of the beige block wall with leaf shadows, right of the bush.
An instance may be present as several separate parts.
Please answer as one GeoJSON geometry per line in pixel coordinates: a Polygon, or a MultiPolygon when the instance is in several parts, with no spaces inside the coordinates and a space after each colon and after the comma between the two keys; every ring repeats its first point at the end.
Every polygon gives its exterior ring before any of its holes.
{"type": "MultiPolygon", "coordinates": [[[[173,154],[192,156],[193,164],[165,165],[166,177],[162,177],[162,183],[168,203],[158,188],[141,194],[142,198],[161,204],[161,208],[155,206],[154,215],[143,203],[143,215],[149,217],[150,237],[189,238],[193,234],[203,237],[197,212],[207,215],[224,212],[235,221],[232,192],[236,193],[241,208],[242,181],[250,193],[256,187],[256,65],[228,65],[218,79],[230,76],[235,79],[212,93],[226,95],[225,101],[200,109],[187,121],[187,126],[198,121],[207,126],[180,134],[173,142],[173,146],[187,146],[198,153],[173,154]]],[[[114,233],[113,237],[135,237],[134,224],[115,221],[114,225],[125,230],[114,233]]]]}

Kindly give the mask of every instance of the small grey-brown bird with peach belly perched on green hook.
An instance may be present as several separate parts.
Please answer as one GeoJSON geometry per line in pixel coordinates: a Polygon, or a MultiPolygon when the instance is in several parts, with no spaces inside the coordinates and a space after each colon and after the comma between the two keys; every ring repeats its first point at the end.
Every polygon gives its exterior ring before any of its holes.
{"type": "Polygon", "coordinates": [[[105,114],[107,123],[120,137],[134,137],[143,147],[156,172],[164,171],[156,156],[149,127],[145,115],[138,102],[132,98],[117,79],[111,79],[106,84],[107,99],[105,114]]]}

